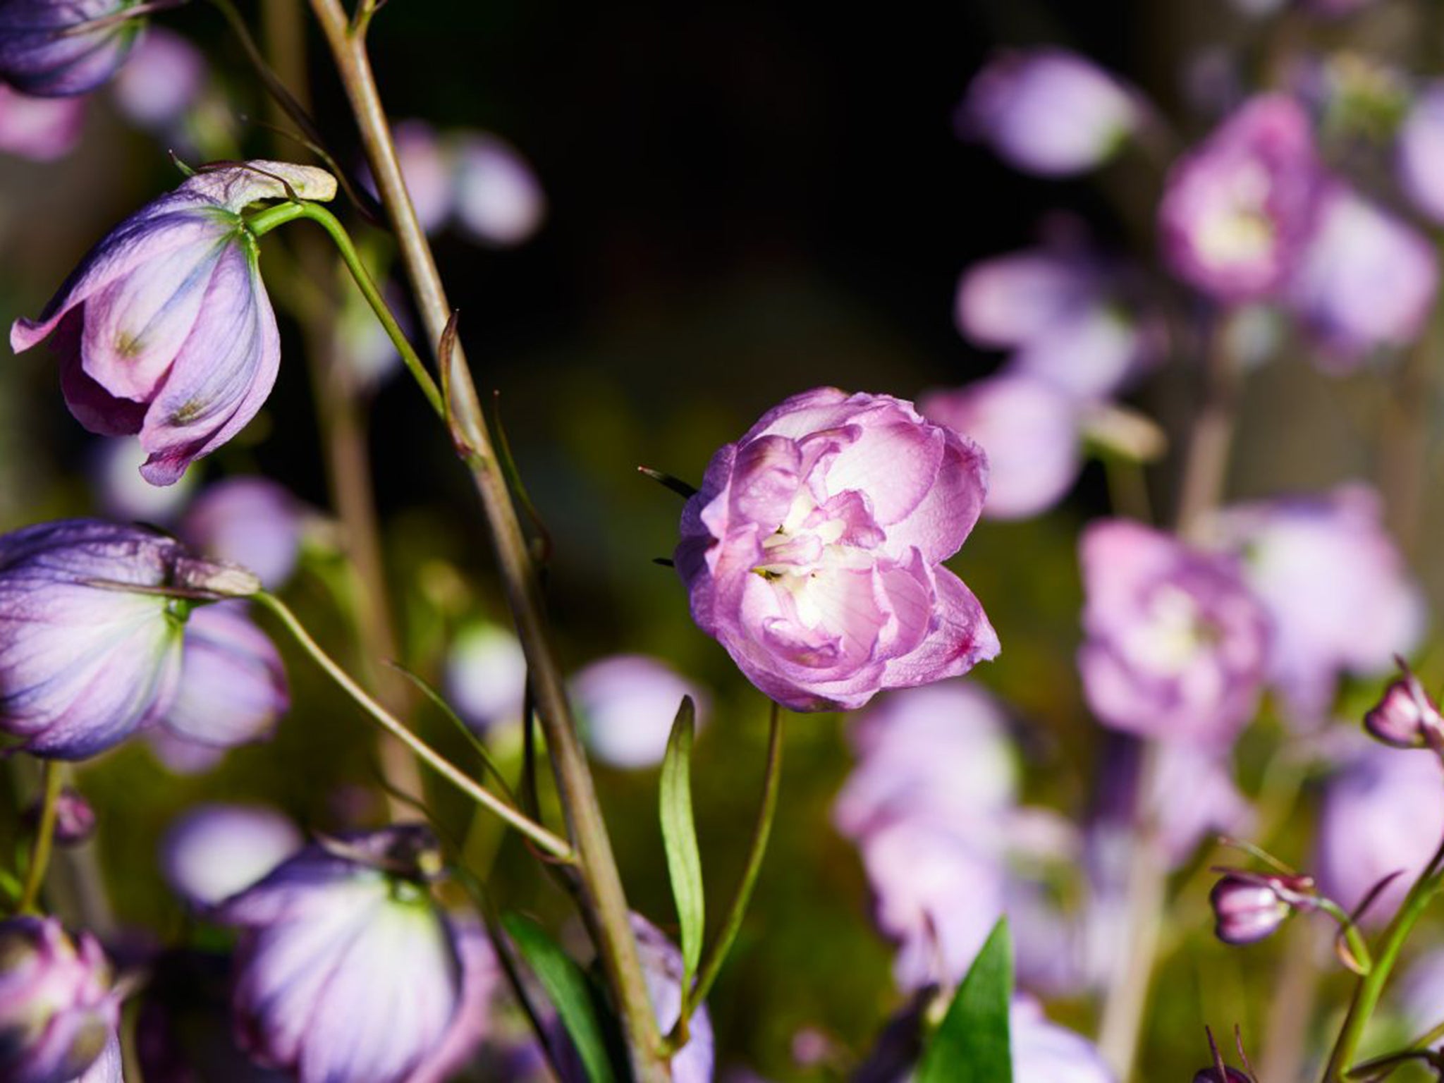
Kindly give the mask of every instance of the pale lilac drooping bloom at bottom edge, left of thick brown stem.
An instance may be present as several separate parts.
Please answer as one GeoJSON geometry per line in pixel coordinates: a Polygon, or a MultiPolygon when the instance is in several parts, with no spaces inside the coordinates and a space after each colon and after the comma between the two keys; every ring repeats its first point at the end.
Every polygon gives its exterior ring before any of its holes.
{"type": "Polygon", "coordinates": [[[245,930],[232,1004],[257,1060],[299,1083],[403,1083],[427,1063],[462,1002],[456,928],[423,882],[433,848],[416,826],[342,836],[218,908],[245,930]]]}

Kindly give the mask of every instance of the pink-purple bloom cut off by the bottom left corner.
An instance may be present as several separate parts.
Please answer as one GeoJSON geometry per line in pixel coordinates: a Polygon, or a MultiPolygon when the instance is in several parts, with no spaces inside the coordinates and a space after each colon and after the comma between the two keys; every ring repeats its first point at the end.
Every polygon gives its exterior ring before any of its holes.
{"type": "Polygon", "coordinates": [[[104,952],[55,918],[16,917],[0,923],[0,1079],[72,1083],[120,1021],[104,952]]]}

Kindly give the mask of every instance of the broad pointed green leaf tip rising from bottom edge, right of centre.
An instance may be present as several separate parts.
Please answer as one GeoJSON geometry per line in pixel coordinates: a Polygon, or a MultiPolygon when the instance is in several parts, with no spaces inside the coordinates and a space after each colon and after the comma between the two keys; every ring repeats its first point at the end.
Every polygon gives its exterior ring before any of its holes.
{"type": "Polygon", "coordinates": [[[917,1083],[1012,1083],[1011,1001],[1012,941],[1002,918],[923,1050],[917,1083]]]}

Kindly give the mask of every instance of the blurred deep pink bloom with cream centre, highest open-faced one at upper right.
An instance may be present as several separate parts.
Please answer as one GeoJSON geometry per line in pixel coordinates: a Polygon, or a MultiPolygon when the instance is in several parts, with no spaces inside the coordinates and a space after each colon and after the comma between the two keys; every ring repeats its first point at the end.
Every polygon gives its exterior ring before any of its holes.
{"type": "Polygon", "coordinates": [[[1313,235],[1321,188],[1302,107],[1256,97],[1170,172],[1160,205],[1164,257],[1220,300],[1272,296],[1313,235]]]}

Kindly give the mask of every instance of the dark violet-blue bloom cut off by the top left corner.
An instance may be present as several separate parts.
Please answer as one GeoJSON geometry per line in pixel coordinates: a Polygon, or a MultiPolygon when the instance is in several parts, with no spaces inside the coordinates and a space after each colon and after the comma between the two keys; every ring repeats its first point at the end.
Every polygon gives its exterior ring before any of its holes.
{"type": "Polygon", "coordinates": [[[126,62],[139,19],[129,0],[3,0],[0,81],[25,94],[68,97],[100,87],[126,62]],[[95,29],[85,29],[94,23],[95,29]]]}

